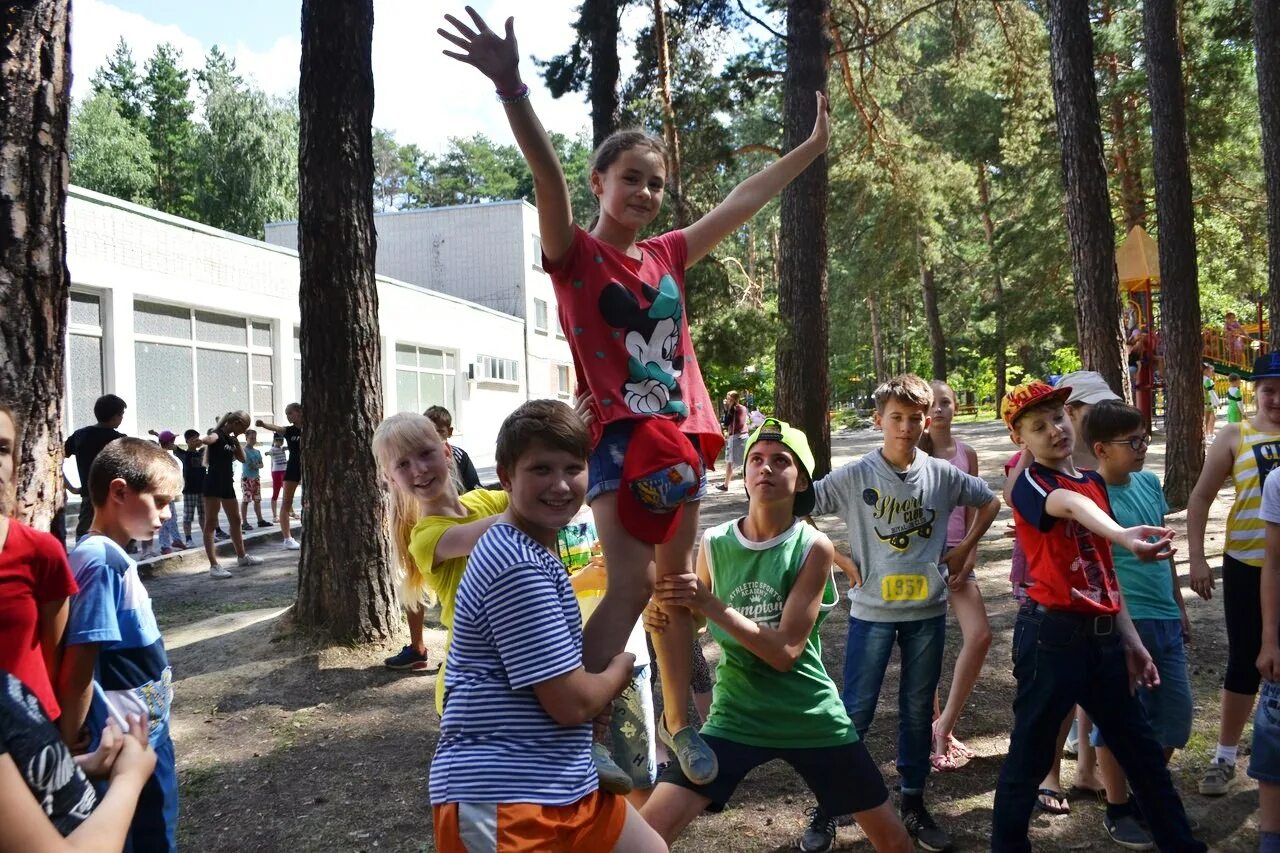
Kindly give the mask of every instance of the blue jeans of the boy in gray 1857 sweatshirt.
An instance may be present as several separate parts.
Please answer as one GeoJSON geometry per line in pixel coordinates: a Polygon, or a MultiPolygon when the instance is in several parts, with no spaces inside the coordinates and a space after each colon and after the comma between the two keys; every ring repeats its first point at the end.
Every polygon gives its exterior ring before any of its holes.
{"type": "Polygon", "coordinates": [[[902,653],[902,675],[897,688],[897,772],[902,777],[904,794],[922,793],[929,775],[933,692],[942,675],[946,626],[945,615],[909,622],[869,622],[849,617],[845,710],[859,738],[867,738],[876,717],[876,702],[895,638],[902,653]]]}

